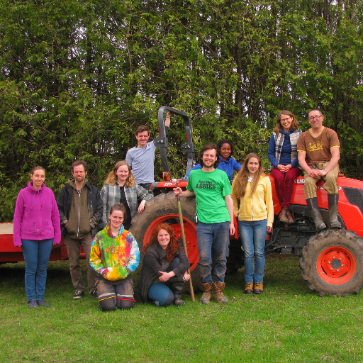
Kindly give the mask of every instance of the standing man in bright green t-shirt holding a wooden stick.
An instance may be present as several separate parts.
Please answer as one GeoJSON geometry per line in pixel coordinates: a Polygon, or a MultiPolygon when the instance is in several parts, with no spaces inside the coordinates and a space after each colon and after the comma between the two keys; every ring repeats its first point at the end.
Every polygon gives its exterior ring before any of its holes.
{"type": "Polygon", "coordinates": [[[229,235],[235,233],[230,181],[225,172],[216,169],[219,162],[216,145],[202,147],[199,154],[201,169],[193,170],[186,191],[175,188],[180,196],[196,196],[196,237],[201,274],[201,303],[209,303],[214,287],[214,300],[228,303],[223,294],[227,266],[229,235]],[[215,259],[212,276],[212,253],[215,259]]]}

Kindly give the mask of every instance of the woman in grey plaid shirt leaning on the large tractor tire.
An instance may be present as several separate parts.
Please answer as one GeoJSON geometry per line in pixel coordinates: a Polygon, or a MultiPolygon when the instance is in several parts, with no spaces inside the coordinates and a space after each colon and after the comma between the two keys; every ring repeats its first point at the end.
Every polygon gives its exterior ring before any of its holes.
{"type": "Polygon", "coordinates": [[[150,191],[138,185],[133,177],[130,166],[125,160],[116,162],[112,172],[104,181],[101,189],[101,198],[104,201],[104,213],[99,228],[107,225],[107,216],[111,206],[115,203],[122,203],[126,208],[126,216],[123,220],[123,227],[128,230],[132,218],[136,213],[143,213],[146,201],[153,198],[150,191]]]}

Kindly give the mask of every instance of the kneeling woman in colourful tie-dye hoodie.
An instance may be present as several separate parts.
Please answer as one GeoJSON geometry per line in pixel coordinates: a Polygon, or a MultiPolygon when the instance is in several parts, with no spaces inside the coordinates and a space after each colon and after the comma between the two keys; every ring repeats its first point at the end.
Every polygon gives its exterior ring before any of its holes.
{"type": "Polygon", "coordinates": [[[96,234],[89,264],[99,274],[96,291],[102,311],[133,308],[133,281],[130,272],[138,268],[140,252],[133,235],[123,228],[126,210],[116,203],[108,214],[108,225],[96,234]]]}

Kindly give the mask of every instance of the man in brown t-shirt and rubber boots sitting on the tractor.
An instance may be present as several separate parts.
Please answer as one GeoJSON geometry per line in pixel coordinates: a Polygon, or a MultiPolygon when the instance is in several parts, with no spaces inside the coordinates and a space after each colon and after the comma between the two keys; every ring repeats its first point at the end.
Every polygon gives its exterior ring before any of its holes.
{"type": "Polygon", "coordinates": [[[311,110],[308,120],[311,129],[302,133],[298,139],[298,163],[304,171],[306,202],[316,230],[319,232],[326,228],[316,197],[316,183],[323,178],[325,181],[323,187],[328,192],[330,228],[340,228],[340,222],[337,220],[339,138],[334,130],[323,126],[324,116],[320,110],[311,110]]]}

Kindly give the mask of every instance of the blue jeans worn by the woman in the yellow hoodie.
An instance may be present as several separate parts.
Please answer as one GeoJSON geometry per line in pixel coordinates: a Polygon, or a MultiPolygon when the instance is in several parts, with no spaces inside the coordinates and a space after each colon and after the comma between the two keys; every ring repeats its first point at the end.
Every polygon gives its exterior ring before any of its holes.
{"type": "Polygon", "coordinates": [[[264,243],[267,235],[267,219],[238,220],[238,229],[242,240],[242,247],[245,250],[245,282],[264,281],[264,243]],[[256,269],[253,266],[255,256],[256,269]]]}

